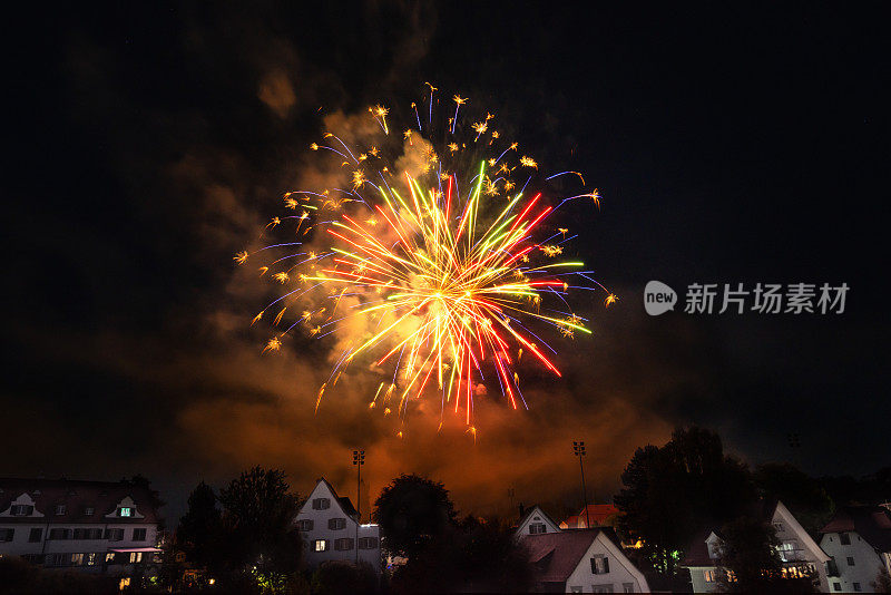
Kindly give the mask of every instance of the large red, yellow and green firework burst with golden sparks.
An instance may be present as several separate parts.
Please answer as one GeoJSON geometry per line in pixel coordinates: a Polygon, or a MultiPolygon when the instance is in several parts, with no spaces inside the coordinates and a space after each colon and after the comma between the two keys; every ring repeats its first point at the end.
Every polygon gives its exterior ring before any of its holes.
{"type": "Polygon", "coordinates": [[[607,306],[617,298],[581,262],[558,260],[575,235],[547,228],[555,209],[541,193],[525,195],[533,177],[544,184],[564,175],[576,176],[582,188],[557,198],[558,206],[585,198],[599,206],[598,191],[586,192],[578,172],[539,178],[539,164],[519,156],[517,143],[500,139],[492,114],[470,127],[474,135],[461,138],[458,109],[467,98],[454,95],[454,115],[438,123],[437,89],[427,85],[425,125],[418,104],[411,104],[417,131],[391,135],[390,109],[378,105],[369,108],[381,136],[376,144],[351,147],[332,133],[313,143],[311,149],[331,156],[323,158],[342,159],[343,187],[285,193],[293,214],[274,217],[262,237],[284,230],[290,240],[239,252],[235,261],[260,261],[261,276],[283,287],[252,322],[268,316],[281,330],[264,352],[280,351],[293,332],[317,339],[347,334],[316,409],[344,370],[362,361],[392,368],[370,408],[389,414],[392,404],[404,422],[411,399],[435,394],[442,413],[462,416],[476,437],[473,397],[486,374],[495,375],[515,409],[527,407],[517,372],[523,353],[560,375],[546,354],[556,351],[530,326],[549,325],[565,338],[590,333],[585,319],[571,312],[569,293],[604,291],[607,306]],[[386,157],[403,157],[409,148],[420,156],[413,168],[386,157]],[[515,179],[523,181],[520,188],[515,179]],[[350,330],[358,319],[363,332],[350,330]]]}

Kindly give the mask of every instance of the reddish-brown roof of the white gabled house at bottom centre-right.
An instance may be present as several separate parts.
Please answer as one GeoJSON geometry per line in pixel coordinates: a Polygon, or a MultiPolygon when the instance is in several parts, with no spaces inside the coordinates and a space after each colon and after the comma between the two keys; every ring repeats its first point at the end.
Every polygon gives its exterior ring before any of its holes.
{"type": "Polygon", "coordinates": [[[565,583],[598,535],[614,545],[619,543],[616,534],[605,527],[525,536],[521,543],[529,552],[535,581],[565,583]]]}

